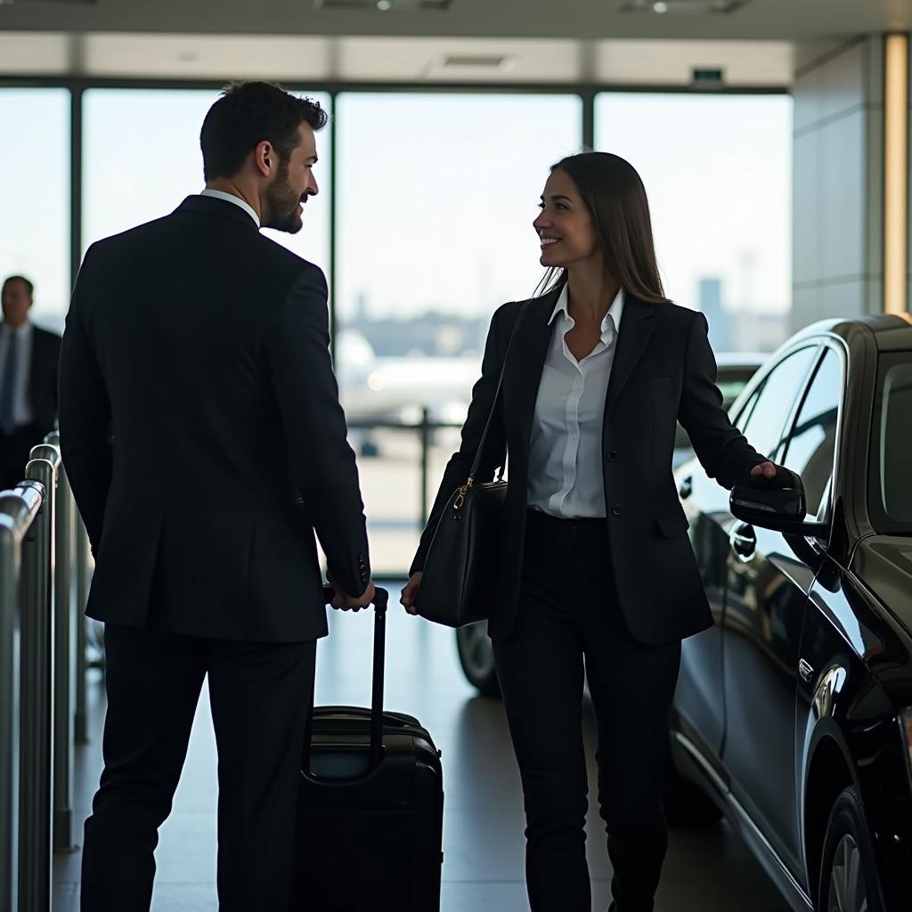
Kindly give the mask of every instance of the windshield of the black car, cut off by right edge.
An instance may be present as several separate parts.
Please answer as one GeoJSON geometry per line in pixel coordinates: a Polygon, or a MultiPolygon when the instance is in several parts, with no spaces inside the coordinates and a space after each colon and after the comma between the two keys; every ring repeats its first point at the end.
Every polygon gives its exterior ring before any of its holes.
{"type": "Polygon", "coordinates": [[[912,352],[881,356],[872,430],[871,518],[883,534],[912,534],[912,352]]]}

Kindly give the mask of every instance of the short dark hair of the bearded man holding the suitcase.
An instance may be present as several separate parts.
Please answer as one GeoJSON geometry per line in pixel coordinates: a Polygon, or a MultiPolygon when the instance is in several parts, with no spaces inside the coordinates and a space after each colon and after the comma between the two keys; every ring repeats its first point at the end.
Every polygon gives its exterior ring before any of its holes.
{"type": "Polygon", "coordinates": [[[298,144],[298,128],[326,126],[329,115],[311,98],[298,98],[273,82],[235,82],[212,105],[200,130],[202,173],[207,181],[233,177],[263,141],[283,161],[298,144]]]}

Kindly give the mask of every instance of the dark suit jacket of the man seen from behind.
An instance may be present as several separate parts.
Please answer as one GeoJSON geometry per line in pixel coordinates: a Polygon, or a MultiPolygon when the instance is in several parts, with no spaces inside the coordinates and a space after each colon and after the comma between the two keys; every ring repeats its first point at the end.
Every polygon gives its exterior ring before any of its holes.
{"type": "Polygon", "coordinates": [[[314,530],[369,580],[326,280],[232,202],[88,250],[63,339],[63,457],[96,556],[88,614],[204,637],[326,634],[314,530]]]}

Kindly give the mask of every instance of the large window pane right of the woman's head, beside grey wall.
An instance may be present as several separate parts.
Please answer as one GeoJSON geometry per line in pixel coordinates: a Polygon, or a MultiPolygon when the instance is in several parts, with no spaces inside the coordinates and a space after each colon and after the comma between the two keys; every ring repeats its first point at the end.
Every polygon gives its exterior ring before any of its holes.
{"type": "Polygon", "coordinates": [[[792,98],[605,92],[596,148],[639,171],[665,292],[701,310],[717,351],[790,333],[792,98]]]}

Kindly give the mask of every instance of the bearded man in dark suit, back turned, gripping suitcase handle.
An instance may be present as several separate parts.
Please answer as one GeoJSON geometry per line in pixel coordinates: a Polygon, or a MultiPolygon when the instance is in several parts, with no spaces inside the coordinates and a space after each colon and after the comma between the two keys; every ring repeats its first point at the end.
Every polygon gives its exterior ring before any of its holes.
{"type": "MultiPolygon", "coordinates": [[[[148,910],[202,680],[219,752],[223,912],[284,909],[316,639],[373,596],[326,281],[294,233],[326,112],[234,85],[202,125],[206,189],[88,250],[67,316],[64,462],[106,624],[101,784],[82,908],[148,910]]],[[[315,875],[318,876],[318,872],[315,875]]]]}

